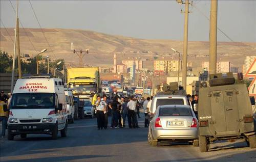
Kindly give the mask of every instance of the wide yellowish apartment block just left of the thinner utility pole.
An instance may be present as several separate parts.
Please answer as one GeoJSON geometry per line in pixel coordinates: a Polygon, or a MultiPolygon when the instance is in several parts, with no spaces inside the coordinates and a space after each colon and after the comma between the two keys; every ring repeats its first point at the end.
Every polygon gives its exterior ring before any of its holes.
{"type": "MultiPolygon", "coordinates": [[[[179,70],[178,60],[155,60],[154,61],[154,71],[163,71],[164,73],[169,73],[171,71],[179,70]]],[[[182,68],[182,61],[180,61],[180,71],[182,68]]]]}

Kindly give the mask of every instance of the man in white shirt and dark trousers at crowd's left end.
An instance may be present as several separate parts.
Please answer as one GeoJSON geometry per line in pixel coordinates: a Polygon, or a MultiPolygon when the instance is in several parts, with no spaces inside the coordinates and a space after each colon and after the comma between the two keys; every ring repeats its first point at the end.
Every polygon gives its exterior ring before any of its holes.
{"type": "Polygon", "coordinates": [[[97,125],[98,130],[103,129],[104,126],[104,112],[103,109],[106,107],[105,101],[101,101],[100,95],[97,96],[97,102],[96,102],[96,116],[97,116],[97,125]]]}

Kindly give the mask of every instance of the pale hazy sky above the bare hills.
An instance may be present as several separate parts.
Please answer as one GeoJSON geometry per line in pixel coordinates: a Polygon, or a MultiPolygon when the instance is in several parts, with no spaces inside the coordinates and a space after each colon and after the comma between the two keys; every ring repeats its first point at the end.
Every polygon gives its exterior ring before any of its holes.
{"type": "MultiPolygon", "coordinates": [[[[16,1],[11,1],[16,10],[16,1]]],[[[190,1],[191,2],[191,1],[190,1]]],[[[10,1],[1,20],[15,26],[10,1]]],[[[176,1],[31,1],[42,28],[82,29],[142,39],[183,40],[185,6],[176,1]]],[[[188,40],[209,40],[210,1],[189,6],[188,40]]],[[[28,1],[19,1],[25,28],[39,28],[28,1]]],[[[1,22],[1,28],[3,24],[1,22]]],[[[256,1],[218,1],[218,28],[237,42],[256,42],[256,1]]],[[[218,31],[218,41],[230,41],[218,31]]]]}

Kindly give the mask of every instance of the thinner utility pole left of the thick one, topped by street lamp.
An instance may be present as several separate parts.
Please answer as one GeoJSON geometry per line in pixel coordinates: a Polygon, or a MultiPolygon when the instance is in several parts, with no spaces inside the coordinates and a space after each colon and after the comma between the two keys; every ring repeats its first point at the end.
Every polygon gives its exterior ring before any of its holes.
{"type": "MultiPolygon", "coordinates": [[[[189,1],[185,1],[185,22],[184,22],[184,40],[183,40],[183,62],[182,62],[182,86],[186,90],[187,85],[187,34],[188,34],[188,5],[189,1]]],[[[180,62],[179,62],[180,63],[180,62]]]]}

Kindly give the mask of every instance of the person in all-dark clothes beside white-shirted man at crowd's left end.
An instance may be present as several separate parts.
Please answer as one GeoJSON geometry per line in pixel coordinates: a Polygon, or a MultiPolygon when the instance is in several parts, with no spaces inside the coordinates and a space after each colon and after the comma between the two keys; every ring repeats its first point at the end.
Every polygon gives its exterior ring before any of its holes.
{"type": "Polygon", "coordinates": [[[118,102],[118,97],[116,96],[113,100],[113,102],[110,104],[110,109],[112,110],[112,121],[111,128],[115,127],[117,128],[118,125],[118,111],[120,110],[121,104],[118,102]]]}

